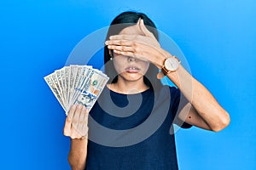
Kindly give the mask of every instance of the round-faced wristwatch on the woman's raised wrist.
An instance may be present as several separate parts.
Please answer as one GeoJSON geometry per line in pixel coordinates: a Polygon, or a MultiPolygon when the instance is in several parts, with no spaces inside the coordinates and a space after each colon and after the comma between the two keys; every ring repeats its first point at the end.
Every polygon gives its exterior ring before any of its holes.
{"type": "Polygon", "coordinates": [[[180,60],[177,57],[172,56],[165,59],[162,66],[162,72],[164,75],[169,74],[170,72],[177,71],[177,67],[180,64],[180,60]]]}

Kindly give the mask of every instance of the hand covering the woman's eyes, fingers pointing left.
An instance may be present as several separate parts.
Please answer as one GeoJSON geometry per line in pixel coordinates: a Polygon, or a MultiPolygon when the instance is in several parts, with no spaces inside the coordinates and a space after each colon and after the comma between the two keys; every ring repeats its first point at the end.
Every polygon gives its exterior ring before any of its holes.
{"type": "Polygon", "coordinates": [[[161,68],[167,52],[160,48],[160,43],[153,33],[148,31],[143,20],[139,20],[137,26],[143,35],[114,35],[109,37],[106,45],[113,49],[115,54],[148,61],[161,68]]]}

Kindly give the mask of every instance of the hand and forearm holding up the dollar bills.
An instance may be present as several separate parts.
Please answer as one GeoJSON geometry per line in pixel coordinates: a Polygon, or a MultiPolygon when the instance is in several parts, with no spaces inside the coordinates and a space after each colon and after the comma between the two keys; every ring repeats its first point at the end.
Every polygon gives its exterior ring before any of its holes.
{"type": "Polygon", "coordinates": [[[71,138],[68,162],[73,170],[84,169],[88,143],[88,110],[84,105],[73,105],[68,112],[64,135],[71,138]]]}

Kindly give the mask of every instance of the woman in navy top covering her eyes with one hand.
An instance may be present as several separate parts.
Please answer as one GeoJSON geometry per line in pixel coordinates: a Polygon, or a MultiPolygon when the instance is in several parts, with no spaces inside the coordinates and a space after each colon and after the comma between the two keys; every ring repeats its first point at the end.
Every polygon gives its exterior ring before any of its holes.
{"type": "Polygon", "coordinates": [[[83,105],[72,106],[64,127],[71,138],[68,158],[73,169],[177,169],[173,123],[214,132],[230,123],[229,114],[207,88],[160,47],[154,28],[148,16],[136,12],[119,14],[111,23],[104,52],[110,80],[90,111],[89,139],[88,128],[76,130],[87,127],[83,105]],[[177,88],[161,85],[164,76],[177,88]],[[124,133],[106,137],[93,120],[124,133]]]}

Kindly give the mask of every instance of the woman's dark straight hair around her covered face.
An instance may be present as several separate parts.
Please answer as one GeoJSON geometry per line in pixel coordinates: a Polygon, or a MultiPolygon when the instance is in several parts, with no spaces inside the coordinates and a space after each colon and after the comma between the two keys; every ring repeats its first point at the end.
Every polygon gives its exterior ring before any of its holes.
{"type": "MultiPolygon", "coordinates": [[[[122,31],[124,28],[128,26],[134,26],[137,24],[137,21],[139,19],[143,19],[145,26],[148,28],[148,31],[152,32],[154,37],[159,40],[158,31],[156,30],[156,26],[154,25],[154,22],[148,18],[146,14],[143,13],[137,13],[133,11],[127,11],[119,14],[116,16],[113,21],[110,24],[110,27],[108,28],[108,34],[106,37],[106,40],[109,39],[110,36],[119,34],[120,31],[122,31]]],[[[118,73],[115,71],[113,66],[113,61],[110,60],[111,55],[109,54],[109,49],[107,46],[104,47],[104,64],[105,64],[105,73],[109,77],[108,82],[117,82],[118,80],[118,73]]],[[[143,77],[144,83],[149,88],[160,88],[162,86],[160,80],[156,78],[156,75],[158,74],[159,69],[153,65],[149,64],[148,71],[143,77]]]]}

